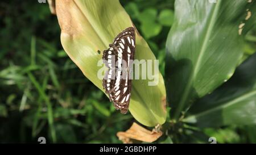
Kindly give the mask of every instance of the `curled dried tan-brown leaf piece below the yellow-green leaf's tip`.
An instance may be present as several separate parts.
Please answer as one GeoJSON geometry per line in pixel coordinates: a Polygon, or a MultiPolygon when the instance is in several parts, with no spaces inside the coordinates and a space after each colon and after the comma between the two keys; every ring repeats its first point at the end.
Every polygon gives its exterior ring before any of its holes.
{"type": "Polygon", "coordinates": [[[152,143],[162,136],[163,133],[159,129],[160,125],[156,125],[153,131],[149,131],[148,129],[141,127],[139,124],[133,123],[127,131],[117,132],[117,136],[119,140],[126,144],[134,143],[135,140],[152,143]]]}

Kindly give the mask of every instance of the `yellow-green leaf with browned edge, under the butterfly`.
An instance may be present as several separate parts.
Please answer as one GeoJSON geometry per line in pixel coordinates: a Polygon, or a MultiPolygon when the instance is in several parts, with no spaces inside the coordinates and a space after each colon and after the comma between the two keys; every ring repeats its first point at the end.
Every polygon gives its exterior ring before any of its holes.
{"type": "MultiPolygon", "coordinates": [[[[113,42],[115,36],[127,27],[133,26],[129,15],[118,0],[112,1],[56,1],[56,13],[61,27],[61,44],[68,56],[82,73],[103,90],[102,79],[97,66],[102,52],[113,42]]],[[[135,59],[155,60],[146,41],[136,35],[135,59]]],[[[159,74],[159,83],[148,86],[149,79],[133,80],[129,111],[138,122],[154,126],[166,120],[164,81],[159,74]]],[[[105,92],[105,91],[104,91],[105,92]]],[[[110,104],[110,103],[109,103],[110,104]]]]}

